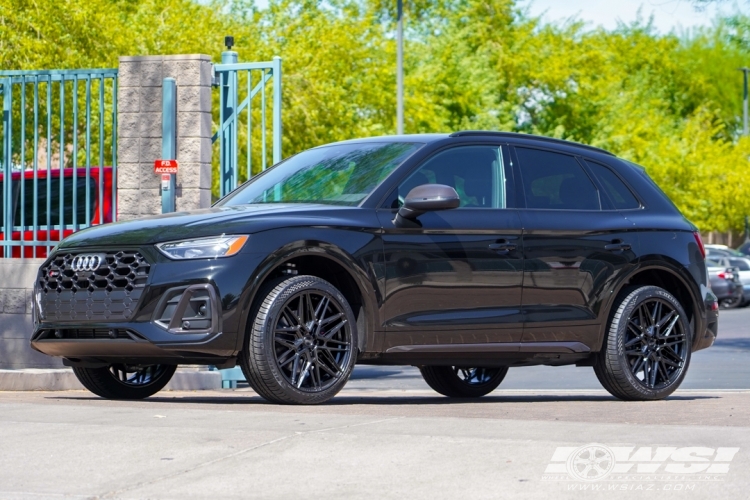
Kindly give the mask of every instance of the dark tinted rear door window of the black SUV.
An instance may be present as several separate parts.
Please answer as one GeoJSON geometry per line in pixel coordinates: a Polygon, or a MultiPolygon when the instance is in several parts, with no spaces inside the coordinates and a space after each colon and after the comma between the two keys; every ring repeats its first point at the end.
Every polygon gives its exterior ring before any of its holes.
{"type": "Polygon", "coordinates": [[[599,191],[575,157],[516,147],[526,208],[601,210],[599,191]]]}

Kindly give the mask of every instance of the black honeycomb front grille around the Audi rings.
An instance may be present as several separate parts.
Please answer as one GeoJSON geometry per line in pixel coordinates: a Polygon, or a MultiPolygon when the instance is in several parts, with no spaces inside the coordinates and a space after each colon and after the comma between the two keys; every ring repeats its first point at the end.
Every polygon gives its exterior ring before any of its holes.
{"type": "Polygon", "coordinates": [[[93,271],[73,270],[77,255],[60,253],[39,270],[43,321],[117,321],[133,316],[151,265],[137,251],[102,252],[93,271]]]}

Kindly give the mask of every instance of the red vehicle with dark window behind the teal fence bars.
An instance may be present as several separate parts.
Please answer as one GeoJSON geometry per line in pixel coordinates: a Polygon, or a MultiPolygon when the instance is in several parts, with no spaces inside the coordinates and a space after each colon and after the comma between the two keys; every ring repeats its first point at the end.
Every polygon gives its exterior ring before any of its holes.
{"type": "MultiPolygon", "coordinates": [[[[0,258],[5,257],[2,244],[6,240],[29,242],[28,245],[13,246],[11,250],[13,258],[20,258],[22,249],[23,256],[26,258],[46,258],[48,248],[66,236],[79,229],[114,220],[112,167],[90,167],[88,176],[86,170],[86,168],[37,170],[36,195],[33,171],[17,171],[11,174],[13,231],[10,238],[7,238],[3,232],[3,226],[0,225],[0,258]],[[60,172],[63,175],[62,213],[60,172]],[[21,179],[23,179],[23,189],[21,179]],[[36,224],[34,224],[35,205],[37,208],[36,224]],[[50,243],[41,244],[43,242],[50,243]]],[[[5,220],[4,184],[5,178],[0,172],[0,200],[2,200],[0,201],[0,224],[5,220]]]]}

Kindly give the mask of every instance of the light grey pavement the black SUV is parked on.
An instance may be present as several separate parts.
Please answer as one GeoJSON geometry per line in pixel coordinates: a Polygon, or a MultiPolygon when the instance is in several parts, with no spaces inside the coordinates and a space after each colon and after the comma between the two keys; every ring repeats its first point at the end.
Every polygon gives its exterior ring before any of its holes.
{"type": "Polygon", "coordinates": [[[330,403],[248,388],[106,401],[0,392],[0,499],[750,497],[750,309],[721,314],[665,401],[591,368],[516,368],[455,401],[414,369],[358,367],[330,403]]]}

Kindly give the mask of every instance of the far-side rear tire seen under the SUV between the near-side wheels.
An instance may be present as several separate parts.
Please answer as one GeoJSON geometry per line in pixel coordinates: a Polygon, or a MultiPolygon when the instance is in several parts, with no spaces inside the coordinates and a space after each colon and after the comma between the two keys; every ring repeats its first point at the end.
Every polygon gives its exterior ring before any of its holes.
{"type": "Polygon", "coordinates": [[[508,367],[462,368],[458,366],[420,366],[427,385],[449,398],[479,398],[497,389],[508,367]]]}

